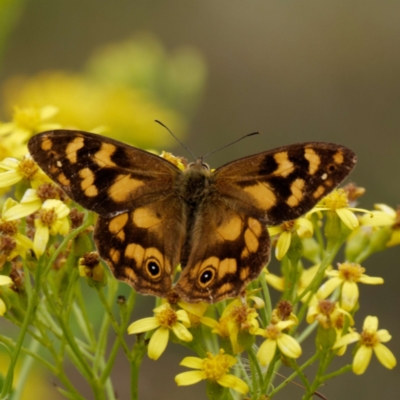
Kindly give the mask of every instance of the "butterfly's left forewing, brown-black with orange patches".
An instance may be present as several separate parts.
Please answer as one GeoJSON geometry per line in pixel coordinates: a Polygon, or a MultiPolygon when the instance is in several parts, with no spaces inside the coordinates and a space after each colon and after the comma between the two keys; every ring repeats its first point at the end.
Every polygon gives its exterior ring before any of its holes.
{"type": "Polygon", "coordinates": [[[93,133],[44,132],[28,146],[69,197],[101,215],[130,211],[167,195],[179,174],[160,157],[93,133]]]}

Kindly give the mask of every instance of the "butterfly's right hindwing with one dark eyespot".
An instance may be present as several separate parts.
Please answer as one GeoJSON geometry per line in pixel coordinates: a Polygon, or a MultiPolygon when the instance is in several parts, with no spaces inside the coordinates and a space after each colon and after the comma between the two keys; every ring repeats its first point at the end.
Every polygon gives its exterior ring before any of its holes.
{"type": "Polygon", "coordinates": [[[211,196],[196,216],[190,254],[175,285],[189,302],[239,296],[269,261],[266,225],[232,206],[211,196]]]}

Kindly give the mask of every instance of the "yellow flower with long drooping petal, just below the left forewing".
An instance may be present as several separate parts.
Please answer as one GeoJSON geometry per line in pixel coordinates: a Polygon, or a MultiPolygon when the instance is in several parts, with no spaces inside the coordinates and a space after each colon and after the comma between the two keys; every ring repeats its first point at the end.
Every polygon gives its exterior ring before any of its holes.
{"type": "Polygon", "coordinates": [[[40,257],[49,241],[49,235],[66,235],[69,231],[69,208],[61,200],[46,200],[35,219],[33,250],[40,257]]]}

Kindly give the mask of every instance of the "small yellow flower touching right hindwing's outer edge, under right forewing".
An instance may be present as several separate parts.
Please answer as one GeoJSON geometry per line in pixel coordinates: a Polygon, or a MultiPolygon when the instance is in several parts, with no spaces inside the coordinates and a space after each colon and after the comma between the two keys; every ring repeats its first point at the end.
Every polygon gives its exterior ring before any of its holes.
{"type": "Polygon", "coordinates": [[[314,229],[310,220],[298,218],[296,220],[284,222],[279,226],[269,227],[268,232],[270,236],[280,234],[275,247],[275,256],[278,260],[282,260],[289,250],[293,234],[297,234],[299,237],[309,238],[313,235],[314,229]]]}

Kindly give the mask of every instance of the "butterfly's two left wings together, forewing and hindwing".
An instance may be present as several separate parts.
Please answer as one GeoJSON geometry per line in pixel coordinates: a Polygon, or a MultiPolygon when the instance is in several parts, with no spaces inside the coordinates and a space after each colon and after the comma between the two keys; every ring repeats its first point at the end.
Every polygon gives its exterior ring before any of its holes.
{"type": "Polygon", "coordinates": [[[114,275],[138,292],[165,297],[185,235],[172,163],[100,135],[44,132],[34,160],[74,201],[100,214],[94,238],[114,275]]]}

